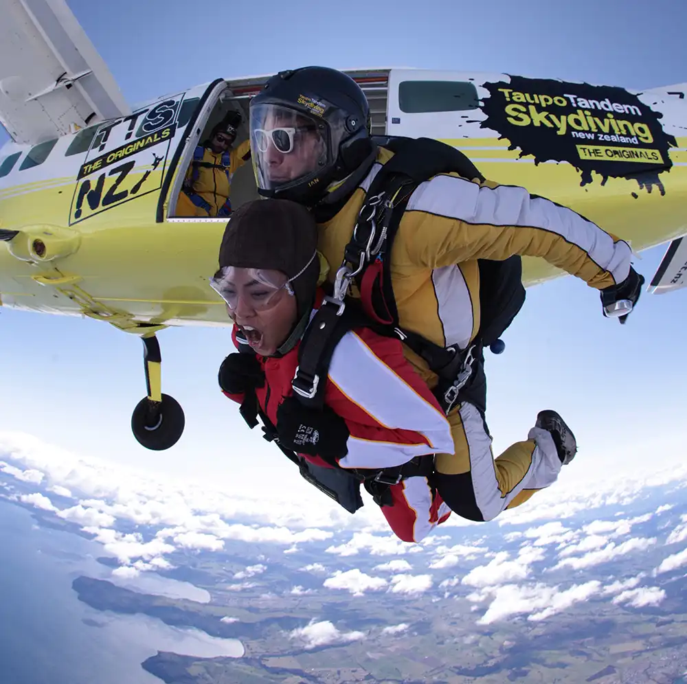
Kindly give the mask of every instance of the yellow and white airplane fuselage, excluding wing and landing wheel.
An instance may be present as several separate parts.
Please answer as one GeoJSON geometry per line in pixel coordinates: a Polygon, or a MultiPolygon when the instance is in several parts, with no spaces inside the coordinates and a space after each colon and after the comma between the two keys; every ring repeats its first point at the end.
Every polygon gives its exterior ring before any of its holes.
{"type": "MultiPolygon", "coordinates": [[[[642,109],[664,115],[659,119],[662,129],[675,138],[675,146],[657,150],[652,147],[655,141],[651,133],[644,135],[646,144],[640,141],[633,145],[616,143],[615,139],[636,139],[635,135],[599,132],[604,125],[613,131],[607,123],[612,121],[613,124],[620,122],[629,133],[628,124],[642,124],[641,114],[616,114],[609,119],[604,110],[570,105],[558,107],[559,112],[552,107],[553,111],[542,119],[542,112],[547,111],[545,107],[522,104],[520,109],[510,110],[513,114],[510,119],[515,123],[508,122],[506,114],[504,128],[499,131],[480,125],[488,118],[481,108],[430,113],[401,110],[403,103],[399,103],[398,93],[404,84],[407,89],[409,82],[421,82],[423,88],[431,82],[440,82],[442,87],[451,82],[475,84],[477,96],[484,102],[487,91],[483,84],[508,83],[513,78],[504,74],[394,69],[351,73],[370,91],[372,87],[368,84],[379,88],[374,91],[376,102],[385,100],[385,124],[376,133],[446,141],[462,150],[488,179],[506,185],[523,185],[532,194],[570,207],[631,242],[635,251],[677,238],[687,231],[687,137],[679,136],[682,124],[687,122],[687,100],[668,94],[675,87],[638,96],[642,109]],[[535,116],[539,115],[540,122],[531,121],[530,109],[535,116]],[[567,117],[572,115],[580,128],[585,115],[576,115],[576,111],[593,112],[589,119],[597,130],[590,131],[587,120],[587,130],[580,133],[594,140],[578,144],[575,139],[578,154],[613,155],[619,150],[636,149],[637,153],[650,150],[649,155],[661,155],[662,161],[671,165],[669,170],[656,172],[651,160],[635,162],[610,157],[611,161],[606,161],[601,157],[607,166],[615,165],[621,171],[626,166],[632,167],[633,175],[604,179],[592,170],[589,182],[583,183],[583,172],[574,163],[536,159],[532,154],[523,154],[527,151],[523,150],[525,145],[510,149],[512,141],[502,137],[508,133],[505,127],[511,126],[517,133],[527,133],[535,140],[532,148],[537,148],[537,136],[548,135],[555,143],[556,137],[563,138],[558,133],[560,128],[552,130],[552,126],[541,124],[541,120],[559,123],[566,109],[567,117]],[[531,130],[525,130],[526,126],[522,125],[526,118],[530,119],[531,130]],[[637,174],[640,164],[649,168],[646,176],[637,174]]],[[[50,140],[36,145],[6,144],[0,152],[0,166],[5,170],[10,163],[12,166],[0,177],[3,306],[104,317],[122,328],[135,328],[139,323],[228,324],[221,299],[207,284],[207,278],[216,269],[218,244],[226,220],[183,218],[176,215],[175,208],[192,152],[204,139],[203,132],[217,119],[217,111],[228,107],[246,114],[249,94],[257,92],[263,80],[219,80],[194,87],[139,108],[126,117],[56,137],[54,144],[50,140]],[[237,92],[241,94],[236,95],[237,92]],[[50,147],[47,155],[45,150],[36,151],[41,145],[50,147]],[[36,164],[44,155],[45,161],[36,164]]],[[[531,81],[539,86],[537,80],[531,81]]],[[[579,86],[563,85],[570,91],[579,86]]],[[[531,90],[513,92],[530,100],[536,95],[539,102],[546,102],[545,93],[531,90]]],[[[513,92],[507,93],[511,99],[513,92]]],[[[646,130],[640,126],[639,132],[646,133],[646,130]]],[[[247,136],[247,131],[241,133],[244,138],[247,136]]],[[[571,128],[567,133],[577,131],[571,128]]],[[[551,156],[556,156],[557,151],[552,149],[551,156]]],[[[232,192],[234,207],[242,199],[257,196],[249,165],[236,176],[236,192],[232,192]]],[[[525,258],[523,262],[526,285],[559,273],[543,260],[525,258]]]]}

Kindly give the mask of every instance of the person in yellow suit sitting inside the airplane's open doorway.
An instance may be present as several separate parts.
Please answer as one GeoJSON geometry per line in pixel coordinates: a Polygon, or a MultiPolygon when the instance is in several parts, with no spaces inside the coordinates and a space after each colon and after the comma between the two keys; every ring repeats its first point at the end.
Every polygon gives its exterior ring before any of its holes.
{"type": "Polygon", "coordinates": [[[222,218],[232,213],[232,176],[251,156],[250,140],[232,149],[240,123],[240,113],[229,112],[214,126],[210,137],[196,147],[184,179],[184,197],[180,197],[177,216],[222,218]]]}

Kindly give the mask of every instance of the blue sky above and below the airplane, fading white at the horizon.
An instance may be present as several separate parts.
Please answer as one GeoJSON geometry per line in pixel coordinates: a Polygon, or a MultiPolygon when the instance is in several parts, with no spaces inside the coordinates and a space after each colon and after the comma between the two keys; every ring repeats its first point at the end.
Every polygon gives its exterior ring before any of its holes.
{"type": "MultiPolygon", "coordinates": [[[[637,89],[687,80],[687,5],[675,0],[600,8],[589,0],[67,3],[130,102],[308,63],[474,69],[637,89]]],[[[664,249],[635,263],[647,280],[664,249]]],[[[623,327],[602,317],[596,290],[571,277],[528,290],[504,336],[506,352],[487,355],[495,452],[525,438],[537,411],[554,408],[580,443],[556,486],[681,461],[686,296],[644,293],[623,327]]],[[[177,446],[153,453],[129,429],[145,394],[138,339],[87,319],[12,310],[0,310],[0,330],[0,431],[166,475],[300,488],[293,466],[218,392],[216,370],[233,350],[228,331],[159,334],[164,391],[183,405],[187,426],[177,446]]]]}

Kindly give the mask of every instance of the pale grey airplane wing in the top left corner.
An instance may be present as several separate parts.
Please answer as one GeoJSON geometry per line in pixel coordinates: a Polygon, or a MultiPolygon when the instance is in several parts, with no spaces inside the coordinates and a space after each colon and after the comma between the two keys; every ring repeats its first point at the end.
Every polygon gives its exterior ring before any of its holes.
{"type": "Polygon", "coordinates": [[[131,113],[65,0],[0,0],[0,122],[19,144],[131,113]]]}

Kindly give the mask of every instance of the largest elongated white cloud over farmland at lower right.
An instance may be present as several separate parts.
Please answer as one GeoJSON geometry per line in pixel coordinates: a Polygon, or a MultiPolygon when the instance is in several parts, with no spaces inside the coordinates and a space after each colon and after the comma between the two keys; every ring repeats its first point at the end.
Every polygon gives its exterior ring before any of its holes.
{"type": "MultiPolygon", "coordinates": [[[[543,620],[570,608],[576,602],[587,600],[600,591],[600,586],[598,580],[574,584],[565,591],[559,591],[558,586],[548,586],[539,582],[530,586],[504,584],[488,590],[488,593],[493,595],[493,601],[477,624],[491,624],[510,615],[519,614],[529,614],[530,621],[543,620]]],[[[473,595],[469,600],[483,601],[484,593],[473,595]]]]}

